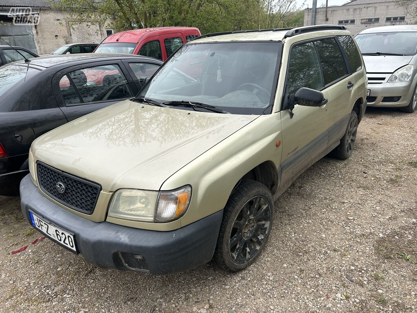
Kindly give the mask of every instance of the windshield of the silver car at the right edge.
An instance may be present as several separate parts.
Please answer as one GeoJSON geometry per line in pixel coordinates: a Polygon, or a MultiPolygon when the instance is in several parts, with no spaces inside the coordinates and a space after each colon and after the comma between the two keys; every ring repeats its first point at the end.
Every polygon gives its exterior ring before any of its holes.
{"type": "Polygon", "coordinates": [[[417,32],[358,34],[355,40],[361,53],[416,54],[417,32]]]}

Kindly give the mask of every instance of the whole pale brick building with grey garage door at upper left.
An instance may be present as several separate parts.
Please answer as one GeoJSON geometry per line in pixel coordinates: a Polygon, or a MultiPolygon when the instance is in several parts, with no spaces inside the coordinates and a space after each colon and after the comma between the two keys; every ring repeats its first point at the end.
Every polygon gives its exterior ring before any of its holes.
{"type": "MultiPolygon", "coordinates": [[[[69,10],[51,8],[51,4],[43,0],[0,0],[0,37],[10,45],[22,46],[35,53],[51,53],[67,43],[100,43],[113,33],[113,28],[97,25],[86,21],[72,24],[69,10]],[[37,25],[14,25],[8,17],[10,8],[31,8],[39,16],[37,25]]],[[[0,45],[4,45],[1,40],[0,45]]]]}

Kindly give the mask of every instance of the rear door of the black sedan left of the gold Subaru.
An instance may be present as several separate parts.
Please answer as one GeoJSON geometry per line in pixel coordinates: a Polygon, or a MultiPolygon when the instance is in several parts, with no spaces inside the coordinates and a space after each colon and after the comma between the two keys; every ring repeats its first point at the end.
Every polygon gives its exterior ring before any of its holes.
{"type": "Polygon", "coordinates": [[[57,102],[68,121],[138,93],[120,60],[68,67],[56,73],[52,83],[57,102]]]}

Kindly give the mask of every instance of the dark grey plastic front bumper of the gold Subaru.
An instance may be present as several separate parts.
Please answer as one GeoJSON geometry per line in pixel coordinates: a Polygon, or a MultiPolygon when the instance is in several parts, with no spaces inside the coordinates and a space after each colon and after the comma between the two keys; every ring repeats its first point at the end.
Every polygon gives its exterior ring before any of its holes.
{"type": "Polygon", "coordinates": [[[110,222],[92,222],[64,210],[38,192],[30,176],[20,183],[23,215],[29,210],[75,235],[78,251],[100,268],[151,274],[177,273],[211,260],[223,211],[172,231],[143,230],[110,222]],[[141,257],[138,257],[141,256],[141,257]]]}

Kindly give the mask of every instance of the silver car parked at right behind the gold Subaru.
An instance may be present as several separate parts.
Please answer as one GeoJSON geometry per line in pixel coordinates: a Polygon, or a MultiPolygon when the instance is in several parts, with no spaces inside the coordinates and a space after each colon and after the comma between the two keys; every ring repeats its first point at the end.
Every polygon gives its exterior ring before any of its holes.
{"type": "Polygon", "coordinates": [[[417,25],[362,30],[355,36],[368,76],[368,106],[413,113],[417,96],[417,25]]]}

